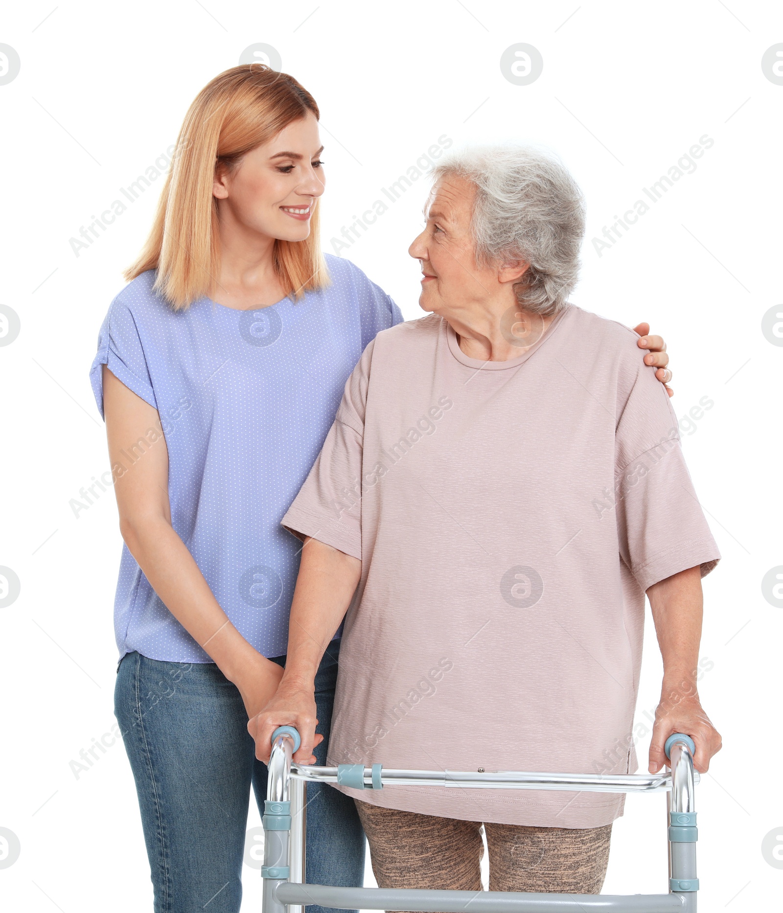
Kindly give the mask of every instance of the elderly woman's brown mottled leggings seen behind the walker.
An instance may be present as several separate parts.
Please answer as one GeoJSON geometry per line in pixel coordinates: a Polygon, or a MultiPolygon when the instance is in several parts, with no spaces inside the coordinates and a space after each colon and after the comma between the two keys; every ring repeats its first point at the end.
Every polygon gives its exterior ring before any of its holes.
{"type": "MultiPolygon", "coordinates": [[[[356,802],[378,887],[481,890],[481,822],[356,802]]],[[[599,894],[611,824],[526,827],[484,824],[491,891],[599,894]]]]}

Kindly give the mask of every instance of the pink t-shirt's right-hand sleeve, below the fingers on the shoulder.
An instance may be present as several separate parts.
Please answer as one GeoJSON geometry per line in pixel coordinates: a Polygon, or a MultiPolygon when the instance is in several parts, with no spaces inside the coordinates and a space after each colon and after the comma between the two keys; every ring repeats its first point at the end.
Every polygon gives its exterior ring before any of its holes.
{"type": "Polygon", "coordinates": [[[720,552],[685,466],[669,396],[643,364],[622,409],[616,443],[619,551],[641,589],[696,565],[704,577],[720,552]]]}

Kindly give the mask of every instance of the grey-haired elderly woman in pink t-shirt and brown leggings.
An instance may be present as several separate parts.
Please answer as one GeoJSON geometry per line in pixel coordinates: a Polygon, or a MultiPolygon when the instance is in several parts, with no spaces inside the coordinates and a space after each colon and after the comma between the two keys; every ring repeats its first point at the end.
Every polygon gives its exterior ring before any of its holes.
{"type": "MultiPolygon", "coordinates": [[[[381,332],[283,525],[305,541],[277,694],[251,720],[315,735],[343,621],[329,763],[630,772],[644,594],[663,658],[650,769],[720,736],[695,670],[719,559],[637,336],[569,304],[584,203],[529,149],[439,164],[410,247],[429,316],[381,332]],[[347,615],[346,615],[347,611],[347,615]]],[[[381,887],[598,893],[623,798],[354,792],[381,887]],[[361,800],[361,801],[359,801],[361,800]]]]}

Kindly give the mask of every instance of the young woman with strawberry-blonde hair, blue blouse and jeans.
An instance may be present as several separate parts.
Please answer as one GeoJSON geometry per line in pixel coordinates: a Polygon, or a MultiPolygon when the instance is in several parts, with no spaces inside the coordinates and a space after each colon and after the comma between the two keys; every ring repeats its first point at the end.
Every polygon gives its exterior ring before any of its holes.
{"type": "MultiPolygon", "coordinates": [[[[92,365],[125,541],[115,710],[156,913],[239,909],[250,786],[259,804],[266,792],[247,726],[282,675],[299,563],[280,519],[365,346],[402,320],[321,254],[318,117],[295,79],[258,65],[199,93],[92,365]]],[[[661,339],[640,347],[668,381],[661,339]]],[[[313,762],[339,649],[338,632],[315,676],[313,762]]],[[[361,885],[354,803],[323,788],[308,800],[307,879],[361,885]]]]}

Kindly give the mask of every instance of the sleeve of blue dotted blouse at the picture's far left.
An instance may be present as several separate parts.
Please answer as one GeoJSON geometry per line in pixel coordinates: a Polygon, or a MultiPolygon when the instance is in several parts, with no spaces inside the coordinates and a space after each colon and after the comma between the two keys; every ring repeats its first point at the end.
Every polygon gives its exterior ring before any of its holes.
{"type": "Polygon", "coordinates": [[[103,415],[103,371],[101,366],[104,364],[129,390],[157,409],[158,404],[144,357],[139,328],[130,308],[120,299],[114,299],[111,302],[109,313],[98,334],[98,353],[90,368],[92,392],[95,394],[95,402],[98,404],[101,416],[103,415]]]}

